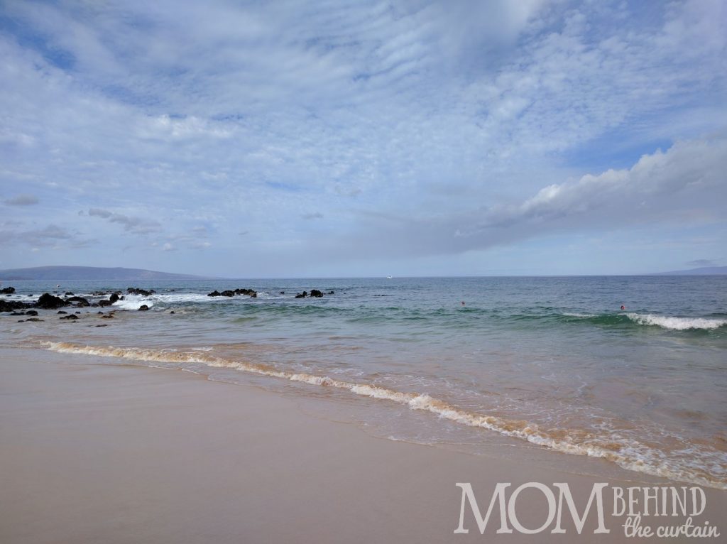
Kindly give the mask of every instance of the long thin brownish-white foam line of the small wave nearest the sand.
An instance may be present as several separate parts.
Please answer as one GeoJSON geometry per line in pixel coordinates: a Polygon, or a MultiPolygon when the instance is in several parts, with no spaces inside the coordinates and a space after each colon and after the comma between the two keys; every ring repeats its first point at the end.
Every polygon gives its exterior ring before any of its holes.
{"type": "Polygon", "coordinates": [[[431,412],[446,420],[469,427],[484,428],[505,436],[523,439],[531,444],[554,449],[558,452],[606,459],[630,471],[661,476],[672,480],[688,481],[706,487],[727,489],[727,479],[720,479],[718,476],[712,475],[709,466],[707,468],[695,467],[679,463],[679,460],[668,460],[663,452],[654,451],[636,441],[618,441],[613,436],[604,437],[599,441],[598,437],[587,431],[552,429],[545,431],[533,423],[522,420],[505,420],[493,415],[467,412],[454,407],[446,401],[435,399],[426,393],[406,393],[370,383],[353,383],[305,372],[288,372],[266,364],[230,361],[229,359],[199,352],[185,353],[143,348],[115,348],[113,346],[98,347],[67,342],[43,342],[41,345],[44,345],[49,351],[57,353],[76,353],[171,364],[204,364],[207,367],[236,369],[293,382],[348,390],[356,395],[371,399],[393,401],[410,409],[431,412]]]}

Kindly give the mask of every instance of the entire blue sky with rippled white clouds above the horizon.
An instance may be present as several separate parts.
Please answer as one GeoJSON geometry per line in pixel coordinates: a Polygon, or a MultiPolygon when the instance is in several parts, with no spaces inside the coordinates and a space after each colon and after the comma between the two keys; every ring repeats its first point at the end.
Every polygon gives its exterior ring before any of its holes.
{"type": "Polygon", "coordinates": [[[0,268],[727,264],[727,4],[0,0],[0,268]]]}

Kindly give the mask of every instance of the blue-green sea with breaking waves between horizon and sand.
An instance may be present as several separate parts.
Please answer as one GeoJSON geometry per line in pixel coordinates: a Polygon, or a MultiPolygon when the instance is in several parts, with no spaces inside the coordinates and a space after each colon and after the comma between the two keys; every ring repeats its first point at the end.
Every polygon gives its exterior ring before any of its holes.
{"type": "Polygon", "coordinates": [[[326,399],[391,439],[477,452],[507,437],[727,489],[727,276],[8,285],[17,292],[7,300],[156,293],[64,308],[77,321],[2,314],[4,346],[326,399]],[[258,295],[207,296],[236,288],[258,295]],[[310,289],[326,295],[295,298],[310,289]]]}

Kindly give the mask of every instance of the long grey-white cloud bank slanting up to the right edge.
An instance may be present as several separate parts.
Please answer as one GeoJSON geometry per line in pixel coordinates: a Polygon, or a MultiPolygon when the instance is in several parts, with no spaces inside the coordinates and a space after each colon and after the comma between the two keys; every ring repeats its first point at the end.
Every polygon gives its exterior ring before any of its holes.
{"type": "Polygon", "coordinates": [[[358,257],[441,255],[549,233],[619,231],[655,222],[717,224],[727,202],[723,172],[727,138],[680,142],[642,156],[630,169],[548,185],[510,204],[415,217],[359,213],[356,230],[319,250],[344,257],[352,255],[347,248],[358,257]]]}

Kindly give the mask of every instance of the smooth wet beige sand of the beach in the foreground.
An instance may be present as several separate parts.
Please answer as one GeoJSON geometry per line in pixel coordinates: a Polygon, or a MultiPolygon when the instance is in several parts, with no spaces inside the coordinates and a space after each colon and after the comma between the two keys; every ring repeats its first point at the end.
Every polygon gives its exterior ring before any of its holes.
{"type": "MultiPolygon", "coordinates": [[[[4,544],[637,540],[624,537],[624,519],[610,515],[610,493],[608,535],[593,535],[593,516],[582,535],[569,516],[565,535],[551,535],[550,528],[497,535],[497,512],[481,535],[469,508],[470,533],[453,534],[462,496],[457,482],[472,484],[483,511],[498,482],[511,482],[510,489],[567,482],[582,510],[593,483],[604,480],[571,473],[572,456],[550,454],[563,459],[561,471],[377,439],[355,425],[308,415],[299,400],[278,393],[190,372],[87,358],[73,364],[79,361],[0,350],[4,544]]],[[[622,472],[622,481],[608,484],[668,484],[622,472]]],[[[529,491],[518,500],[518,517],[538,527],[547,507],[529,491]]],[[[719,527],[727,492],[704,491],[707,509],[696,524],[719,527]]],[[[727,527],[720,529],[723,536],[710,541],[724,541],[727,527]]]]}

